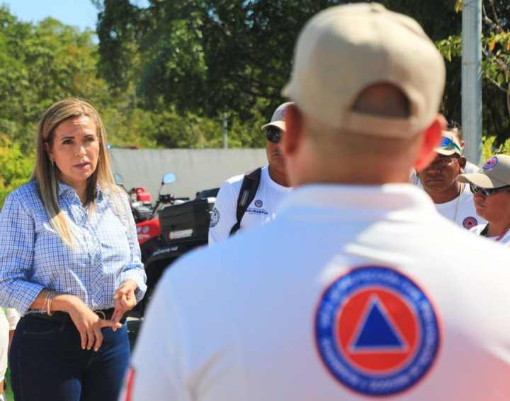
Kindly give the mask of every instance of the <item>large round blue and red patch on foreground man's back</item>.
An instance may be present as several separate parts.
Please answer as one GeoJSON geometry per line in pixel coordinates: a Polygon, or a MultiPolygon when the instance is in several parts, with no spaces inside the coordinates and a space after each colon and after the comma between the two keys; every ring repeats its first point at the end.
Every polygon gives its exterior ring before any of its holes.
{"type": "Polygon", "coordinates": [[[441,344],[438,313],[394,269],[352,269],[331,284],[315,318],[319,356],[333,378],[363,395],[395,395],[430,370],[441,344]]]}

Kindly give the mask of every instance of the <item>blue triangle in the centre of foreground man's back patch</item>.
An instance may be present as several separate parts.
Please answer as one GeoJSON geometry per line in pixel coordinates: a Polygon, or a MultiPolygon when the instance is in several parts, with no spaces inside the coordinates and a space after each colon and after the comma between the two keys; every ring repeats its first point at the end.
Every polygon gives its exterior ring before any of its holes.
{"type": "Polygon", "coordinates": [[[358,334],[351,343],[351,351],[406,351],[407,344],[390,321],[378,296],[370,298],[365,317],[358,325],[358,334]]]}

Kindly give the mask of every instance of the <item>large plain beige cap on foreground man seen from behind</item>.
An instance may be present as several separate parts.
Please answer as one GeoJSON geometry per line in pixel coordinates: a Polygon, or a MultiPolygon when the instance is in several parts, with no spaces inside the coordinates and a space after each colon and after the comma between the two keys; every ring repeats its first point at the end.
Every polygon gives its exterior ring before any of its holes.
{"type": "Polygon", "coordinates": [[[443,57],[414,19],[381,4],[348,4],[318,13],[302,29],[282,94],[329,127],[409,137],[433,122],[445,77],[443,57]],[[358,95],[375,83],[402,90],[411,115],[354,112],[358,95]]]}

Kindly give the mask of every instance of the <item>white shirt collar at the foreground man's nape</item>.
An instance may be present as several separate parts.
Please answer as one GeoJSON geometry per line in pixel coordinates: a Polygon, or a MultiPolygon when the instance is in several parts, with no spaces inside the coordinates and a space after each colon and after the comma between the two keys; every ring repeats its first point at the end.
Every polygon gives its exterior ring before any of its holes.
{"type": "Polygon", "coordinates": [[[409,209],[436,211],[426,192],[410,184],[303,185],[290,192],[278,209],[283,215],[303,208],[330,209],[346,214],[356,209],[358,213],[353,219],[409,209]]]}

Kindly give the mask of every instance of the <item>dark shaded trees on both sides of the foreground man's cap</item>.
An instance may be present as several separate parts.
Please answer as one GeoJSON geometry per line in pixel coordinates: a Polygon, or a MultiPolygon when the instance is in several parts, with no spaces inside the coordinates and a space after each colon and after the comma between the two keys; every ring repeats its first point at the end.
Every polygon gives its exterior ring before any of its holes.
{"type": "MultiPolygon", "coordinates": [[[[142,107],[172,106],[216,120],[228,111],[232,118],[253,122],[256,115],[270,116],[283,101],[280,89],[305,21],[328,6],[360,1],[149,0],[142,8],[129,0],[95,0],[101,11],[101,71],[118,88],[134,83],[142,107]]],[[[461,1],[380,2],[416,18],[436,41],[448,60],[443,112],[460,122],[461,1]]],[[[484,5],[495,11],[501,28],[485,20],[484,123],[487,134],[502,141],[509,129],[502,91],[508,85],[503,64],[509,62],[502,54],[510,6],[506,0],[484,0],[484,5]]]]}

